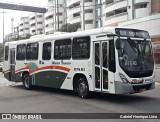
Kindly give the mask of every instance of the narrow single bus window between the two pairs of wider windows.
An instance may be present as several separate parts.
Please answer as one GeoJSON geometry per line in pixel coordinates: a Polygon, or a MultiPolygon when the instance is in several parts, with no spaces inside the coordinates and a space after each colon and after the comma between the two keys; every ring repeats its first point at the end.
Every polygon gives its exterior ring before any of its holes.
{"type": "Polygon", "coordinates": [[[43,44],[43,60],[50,60],[51,59],[51,42],[47,42],[43,44]]]}

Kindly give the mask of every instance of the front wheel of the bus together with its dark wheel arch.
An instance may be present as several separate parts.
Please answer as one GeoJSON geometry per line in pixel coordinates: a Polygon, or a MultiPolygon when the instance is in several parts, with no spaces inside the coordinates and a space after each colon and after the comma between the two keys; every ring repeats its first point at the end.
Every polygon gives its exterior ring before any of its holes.
{"type": "Polygon", "coordinates": [[[84,74],[75,74],[73,77],[73,90],[82,98],[90,96],[89,84],[84,74]],[[84,93],[84,94],[83,94],[84,93]]]}

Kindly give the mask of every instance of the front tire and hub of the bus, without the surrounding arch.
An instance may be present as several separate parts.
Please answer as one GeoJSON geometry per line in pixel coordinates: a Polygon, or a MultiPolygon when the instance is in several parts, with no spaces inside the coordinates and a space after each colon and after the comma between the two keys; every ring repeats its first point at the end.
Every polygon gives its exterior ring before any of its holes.
{"type": "Polygon", "coordinates": [[[77,93],[81,98],[88,98],[90,96],[88,83],[84,77],[78,79],[77,93]]]}

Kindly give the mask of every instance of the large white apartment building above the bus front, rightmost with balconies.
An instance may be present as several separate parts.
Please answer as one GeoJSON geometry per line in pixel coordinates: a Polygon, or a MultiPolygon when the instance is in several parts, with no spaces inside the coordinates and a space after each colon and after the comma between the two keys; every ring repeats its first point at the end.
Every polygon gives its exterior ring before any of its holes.
{"type": "Polygon", "coordinates": [[[103,0],[103,26],[145,17],[150,14],[151,0],[103,0]]]}

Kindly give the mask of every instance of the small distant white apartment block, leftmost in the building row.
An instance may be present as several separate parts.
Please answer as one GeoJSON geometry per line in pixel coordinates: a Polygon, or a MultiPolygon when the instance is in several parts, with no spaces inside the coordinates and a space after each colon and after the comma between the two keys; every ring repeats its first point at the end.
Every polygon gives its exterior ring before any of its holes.
{"type": "Polygon", "coordinates": [[[19,23],[19,36],[26,37],[29,32],[29,17],[21,17],[19,23]]]}

